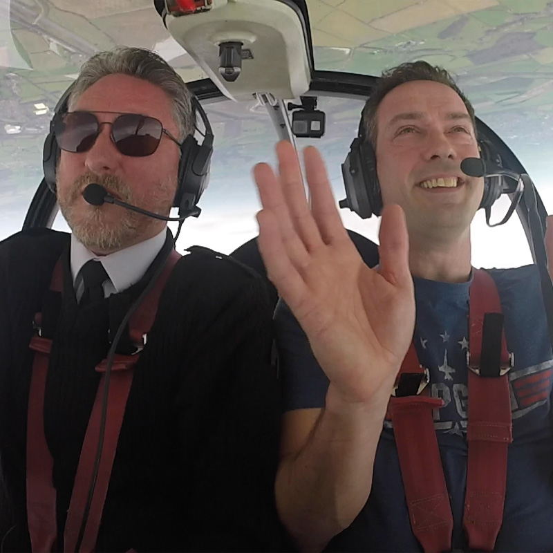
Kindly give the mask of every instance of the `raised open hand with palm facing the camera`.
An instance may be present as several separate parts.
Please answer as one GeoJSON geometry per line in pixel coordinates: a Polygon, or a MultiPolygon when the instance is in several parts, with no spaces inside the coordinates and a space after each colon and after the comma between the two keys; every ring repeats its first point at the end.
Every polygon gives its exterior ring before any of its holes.
{"type": "Polygon", "coordinates": [[[263,205],[259,249],[268,277],[338,393],[348,402],[365,402],[391,387],[413,338],[404,214],[397,205],[384,208],[380,265],[368,268],[341,223],[317,149],[304,152],[311,209],[292,144],[279,142],[277,156],[278,176],[263,163],[254,169],[263,205]]]}

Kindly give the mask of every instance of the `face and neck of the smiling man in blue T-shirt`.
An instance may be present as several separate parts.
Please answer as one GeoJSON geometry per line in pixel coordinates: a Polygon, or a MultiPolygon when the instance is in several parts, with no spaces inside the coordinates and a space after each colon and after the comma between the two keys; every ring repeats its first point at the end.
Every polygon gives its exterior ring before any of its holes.
{"type": "Polygon", "coordinates": [[[404,211],[409,265],[427,279],[466,281],[470,272],[470,223],[480,205],[483,179],[460,169],[478,158],[474,111],[458,91],[435,81],[413,81],[389,91],[365,121],[377,152],[384,205],[404,211]],[[406,108],[409,111],[406,111],[406,108]]]}

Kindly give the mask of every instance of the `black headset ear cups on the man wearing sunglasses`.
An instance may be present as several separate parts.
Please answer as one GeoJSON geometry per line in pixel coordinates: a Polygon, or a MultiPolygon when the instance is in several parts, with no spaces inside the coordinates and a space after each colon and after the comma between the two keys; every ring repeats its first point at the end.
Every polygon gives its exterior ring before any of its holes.
{"type": "MultiPolygon", "coordinates": [[[[56,192],[56,166],[61,151],[55,137],[54,122],[57,118],[67,113],[68,98],[74,86],[75,83],[72,83],[57,102],[54,117],[50,121],[50,131],[44,141],[42,155],[44,178],[54,194],[56,192]]],[[[191,97],[191,104],[192,111],[194,112],[194,121],[196,121],[196,115],[200,115],[205,125],[205,135],[201,144],[198,144],[196,138],[191,134],[187,135],[182,144],[180,144],[177,188],[173,200],[173,207],[178,207],[179,216],[194,209],[200,200],[200,196],[209,182],[209,161],[213,153],[213,131],[207,115],[194,95],[191,97]]]]}

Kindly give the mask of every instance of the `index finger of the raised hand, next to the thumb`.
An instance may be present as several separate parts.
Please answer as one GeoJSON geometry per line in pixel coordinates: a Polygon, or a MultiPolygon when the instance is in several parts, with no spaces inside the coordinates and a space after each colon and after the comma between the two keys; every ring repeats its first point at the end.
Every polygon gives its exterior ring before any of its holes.
{"type": "Polygon", "coordinates": [[[341,222],[332,194],[330,181],[321,154],[314,147],[303,151],[306,164],[306,177],[311,191],[311,211],[325,243],[348,237],[341,222]]]}

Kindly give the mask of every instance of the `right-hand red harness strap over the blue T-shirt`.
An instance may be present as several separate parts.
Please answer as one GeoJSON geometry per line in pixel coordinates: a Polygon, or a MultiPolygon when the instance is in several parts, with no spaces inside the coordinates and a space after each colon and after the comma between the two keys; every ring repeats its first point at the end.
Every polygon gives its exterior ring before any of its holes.
{"type": "Polygon", "coordinates": [[[474,272],[469,309],[469,421],[463,526],[474,550],[493,551],[503,522],[511,399],[503,315],[494,280],[474,272]]]}

